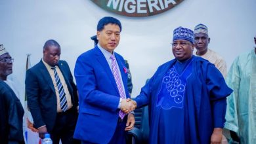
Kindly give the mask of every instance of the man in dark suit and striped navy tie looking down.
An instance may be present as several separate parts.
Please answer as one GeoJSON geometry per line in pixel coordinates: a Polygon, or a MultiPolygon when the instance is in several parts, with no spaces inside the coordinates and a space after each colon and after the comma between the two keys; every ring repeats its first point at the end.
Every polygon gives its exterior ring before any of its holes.
{"type": "Polygon", "coordinates": [[[42,60],[26,72],[26,94],[39,137],[51,134],[53,143],[78,143],[73,139],[77,121],[77,88],[68,63],[60,60],[60,45],[49,40],[42,60]]]}

